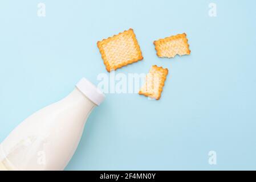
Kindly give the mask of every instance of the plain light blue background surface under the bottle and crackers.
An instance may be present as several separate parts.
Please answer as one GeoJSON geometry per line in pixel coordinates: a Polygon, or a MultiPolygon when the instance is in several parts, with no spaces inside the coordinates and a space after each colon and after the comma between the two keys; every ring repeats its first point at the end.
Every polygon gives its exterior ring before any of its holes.
{"type": "MultiPolygon", "coordinates": [[[[107,73],[96,42],[133,28],[144,60],[169,69],[162,98],[107,94],[68,170],[256,169],[256,1],[1,1],[0,141],[86,77],[107,73]],[[46,17],[37,16],[38,3],[46,17]],[[217,17],[208,15],[209,3],[217,17]],[[191,55],[153,41],[186,32],[191,55]],[[208,152],[217,152],[217,165],[208,152]]],[[[108,74],[108,73],[107,73],[108,74]]]]}

